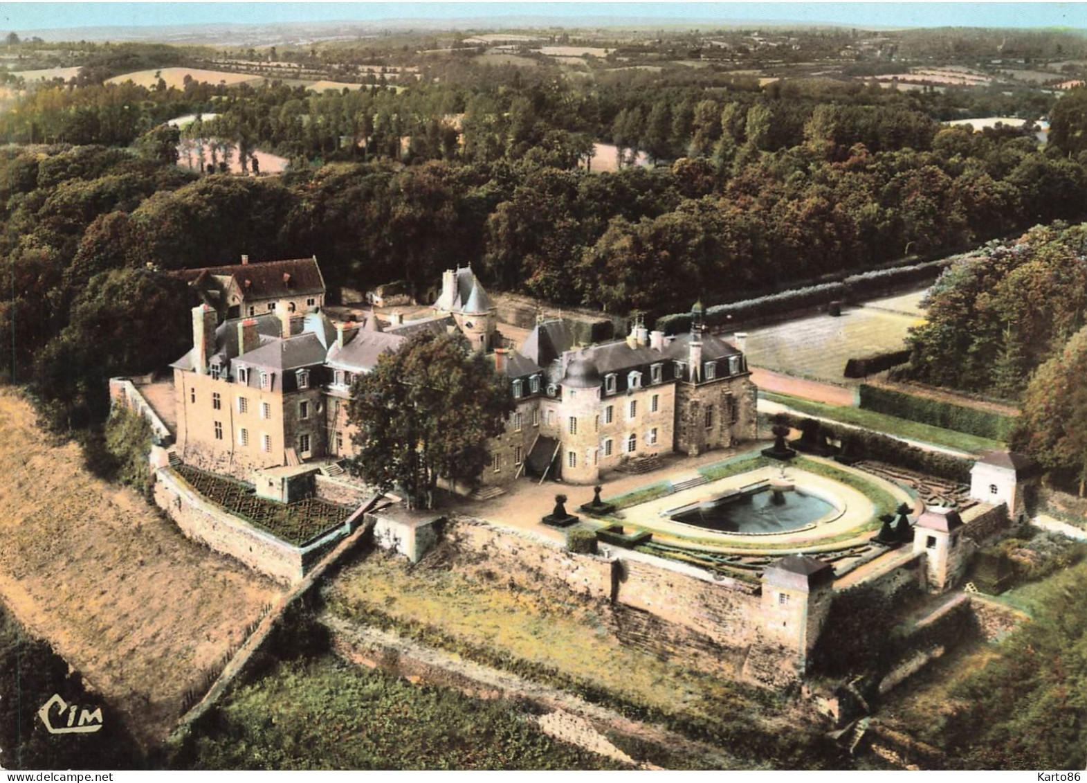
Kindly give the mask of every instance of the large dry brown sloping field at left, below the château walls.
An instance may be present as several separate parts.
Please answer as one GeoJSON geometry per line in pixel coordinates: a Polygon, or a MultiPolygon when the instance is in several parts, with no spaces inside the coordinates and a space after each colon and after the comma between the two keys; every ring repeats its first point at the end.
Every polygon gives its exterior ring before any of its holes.
{"type": "Polygon", "coordinates": [[[0,389],[0,600],[149,747],[283,591],[90,475],[75,444],[49,445],[34,421],[0,389]]]}

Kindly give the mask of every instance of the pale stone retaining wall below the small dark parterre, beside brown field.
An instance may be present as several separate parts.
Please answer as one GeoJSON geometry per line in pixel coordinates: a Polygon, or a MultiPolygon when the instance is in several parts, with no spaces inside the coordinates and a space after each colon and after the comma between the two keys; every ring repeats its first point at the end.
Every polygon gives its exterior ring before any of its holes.
{"type": "Polygon", "coordinates": [[[302,550],[208,501],[170,469],[155,474],[154,501],[193,540],[290,584],[302,579],[302,550]]]}

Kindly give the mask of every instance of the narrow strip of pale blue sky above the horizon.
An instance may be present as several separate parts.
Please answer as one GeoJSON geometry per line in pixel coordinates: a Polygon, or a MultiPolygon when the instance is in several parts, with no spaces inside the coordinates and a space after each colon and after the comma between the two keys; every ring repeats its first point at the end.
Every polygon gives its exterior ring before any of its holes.
{"type": "Polygon", "coordinates": [[[613,17],[690,23],[802,22],[879,27],[1077,27],[1087,2],[0,2],[0,30],[96,26],[533,16],[574,26],[613,17]]]}

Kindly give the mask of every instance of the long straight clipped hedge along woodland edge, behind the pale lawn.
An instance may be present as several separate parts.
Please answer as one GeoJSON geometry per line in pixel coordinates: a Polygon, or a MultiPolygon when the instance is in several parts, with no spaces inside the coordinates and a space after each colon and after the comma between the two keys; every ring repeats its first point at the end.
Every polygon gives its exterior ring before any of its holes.
{"type": "MultiPolygon", "coordinates": [[[[935,279],[953,260],[953,258],[945,258],[909,266],[873,270],[849,275],[833,283],[794,288],[780,294],[770,294],[728,304],[714,304],[705,311],[705,323],[709,326],[741,323],[812,307],[826,307],[835,300],[853,301],[863,297],[877,296],[899,286],[935,279]]],[[[662,315],[657,319],[655,328],[665,334],[686,332],[690,328],[690,313],[662,315]]]]}

